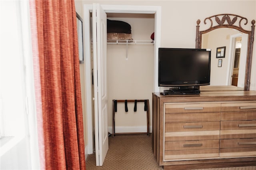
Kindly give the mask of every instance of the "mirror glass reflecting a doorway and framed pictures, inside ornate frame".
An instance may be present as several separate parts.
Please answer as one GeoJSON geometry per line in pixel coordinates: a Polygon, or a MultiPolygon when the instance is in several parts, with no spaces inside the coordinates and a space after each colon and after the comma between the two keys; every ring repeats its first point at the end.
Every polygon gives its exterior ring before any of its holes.
{"type": "Polygon", "coordinates": [[[248,34],[233,28],[218,28],[202,34],[201,48],[212,51],[211,85],[244,88],[247,43],[248,34]]]}

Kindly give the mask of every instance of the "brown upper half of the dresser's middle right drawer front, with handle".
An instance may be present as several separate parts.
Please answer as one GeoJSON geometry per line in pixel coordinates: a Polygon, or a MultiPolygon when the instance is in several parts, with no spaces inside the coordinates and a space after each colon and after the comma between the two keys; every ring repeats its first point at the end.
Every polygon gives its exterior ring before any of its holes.
{"type": "Polygon", "coordinates": [[[256,121],[221,121],[220,130],[256,129],[256,121]]]}

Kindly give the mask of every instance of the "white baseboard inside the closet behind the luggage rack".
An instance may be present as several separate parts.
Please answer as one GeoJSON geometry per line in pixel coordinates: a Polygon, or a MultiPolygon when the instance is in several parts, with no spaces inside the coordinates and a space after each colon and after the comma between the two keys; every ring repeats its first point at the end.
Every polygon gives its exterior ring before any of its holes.
{"type": "MultiPolygon", "coordinates": [[[[115,127],[116,133],[127,133],[127,132],[147,132],[147,126],[136,126],[136,127],[115,127]]],[[[152,132],[152,126],[149,127],[150,133],[152,132]]],[[[108,127],[108,132],[112,134],[112,127],[108,127]]]]}

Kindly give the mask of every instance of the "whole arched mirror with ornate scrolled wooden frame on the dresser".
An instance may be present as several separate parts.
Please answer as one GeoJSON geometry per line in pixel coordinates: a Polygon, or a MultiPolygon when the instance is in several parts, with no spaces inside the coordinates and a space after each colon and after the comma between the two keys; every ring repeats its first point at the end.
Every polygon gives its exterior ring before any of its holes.
{"type": "Polygon", "coordinates": [[[249,90],[255,20],[251,22],[250,31],[241,26],[247,23],[242,16],[218,14],[205,18],[204,24],[210,26],[199,31],[200,20],[197,20],[196,48],[212,51],[211,85],[233,85],[249,90]]]}

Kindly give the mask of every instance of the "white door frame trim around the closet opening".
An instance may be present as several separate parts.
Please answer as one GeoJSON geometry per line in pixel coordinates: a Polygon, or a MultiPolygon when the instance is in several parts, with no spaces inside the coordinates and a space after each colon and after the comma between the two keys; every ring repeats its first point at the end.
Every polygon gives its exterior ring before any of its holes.
{"type": "MultiPolygon", "coordinates": [[[[154,92],[160,92],[158,87],[158,48],[161,40],[161,6],[131,6],[131,5],[101,5],[106,13],[154,14],[154,92]]],[[[91,68],[91,25],[90,13],[92,4],[84,4],[84,49],[85,49],[85,84],[86,84],[86,123],[87,146],[86,153],[93,153],[93,127],[92,127],[92,68],[91,68]]]]}

